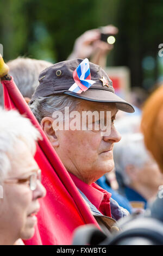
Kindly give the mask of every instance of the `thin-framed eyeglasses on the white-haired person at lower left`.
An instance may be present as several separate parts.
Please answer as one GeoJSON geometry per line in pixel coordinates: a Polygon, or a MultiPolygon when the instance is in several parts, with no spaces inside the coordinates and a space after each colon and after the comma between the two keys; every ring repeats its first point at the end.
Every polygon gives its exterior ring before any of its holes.
{"type": "Polygon", "coordinates": [[[41,182],[41,170],[37,170],[36,172],[32,173],[28,176],[26,179],[21,178],[9,178],[5,179],[4,183],[10,183],[10,184],[28,184],[30,187],[30,190],[34,191],[37,187],[37,180],[41,182]]]}

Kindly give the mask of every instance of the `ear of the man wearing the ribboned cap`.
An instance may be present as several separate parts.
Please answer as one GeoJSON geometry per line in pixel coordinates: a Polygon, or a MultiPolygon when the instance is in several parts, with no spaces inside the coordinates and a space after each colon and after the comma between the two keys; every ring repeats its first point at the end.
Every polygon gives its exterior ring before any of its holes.
{"type": "Polygon", "coordinates": [[[59,139],[57,136],[57,131],[53,129],[53,118],[51,117],[44,117],[41,120],[41,127],[42,130],[45,132],[46,136],[48,137],[49,141],[51,142],[54,148],[59,147],[59,139]]]}

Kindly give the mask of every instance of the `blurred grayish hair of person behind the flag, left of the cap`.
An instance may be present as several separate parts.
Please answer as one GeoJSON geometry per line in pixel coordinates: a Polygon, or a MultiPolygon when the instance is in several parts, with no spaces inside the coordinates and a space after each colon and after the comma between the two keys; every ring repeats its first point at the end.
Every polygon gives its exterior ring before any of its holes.
{"type": "MultiPolygon", "coordinates": [[[[14,60],[10,60],[7,65],[10,68],[9,75],[14,77],[16,86],[20,90],[23,97],[31,98],[36,87],[39,85],[38,79],[40,72],[48,68],[48,66],[53,65],[53,63],[45,60],[18,57],[14,60]]],[[[1,88],[0,102],[3,101],[2,94],[1,88]]]]}

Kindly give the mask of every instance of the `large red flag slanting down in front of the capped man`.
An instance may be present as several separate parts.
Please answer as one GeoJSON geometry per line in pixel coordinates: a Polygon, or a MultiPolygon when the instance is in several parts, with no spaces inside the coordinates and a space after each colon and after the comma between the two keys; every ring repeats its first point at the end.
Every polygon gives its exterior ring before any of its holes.
{"type": "Polygon", "coordinates": [[[7,109],[17,109],[29,118],[43,138],[37,143],[35,160],[42,170],[42,184],[47,190],[40,199],[35,235],[24,241],[26,245],[71,245],[73,231],[79,225],[95,224],[95,218],[87,208],[77,187],[55,153],[40,124],[34,117],[26,101],[16,87],[13,78],[2,80],[4,105],[7,109]]]}

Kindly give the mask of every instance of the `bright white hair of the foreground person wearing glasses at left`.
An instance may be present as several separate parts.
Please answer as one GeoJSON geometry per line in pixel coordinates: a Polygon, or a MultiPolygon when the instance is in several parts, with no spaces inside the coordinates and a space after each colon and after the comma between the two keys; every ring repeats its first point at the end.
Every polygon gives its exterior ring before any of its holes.
{"type": "Polygon", "coordinates": [[[5,111],[0,108],[0,180],[11,170],[12,162],[16,159],[15,145],[23,142],[30,153],[35,154],[35,141],[41,139],[39,131],[28,118],[17,111],[5,111]]]}

